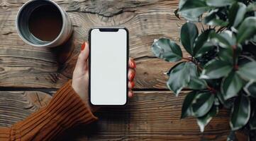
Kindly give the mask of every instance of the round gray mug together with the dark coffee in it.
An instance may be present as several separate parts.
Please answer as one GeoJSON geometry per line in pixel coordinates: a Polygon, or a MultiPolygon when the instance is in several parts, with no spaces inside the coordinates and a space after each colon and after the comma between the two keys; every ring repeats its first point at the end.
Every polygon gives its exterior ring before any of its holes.
{"type": "Polygon", "coordinates": [[[34,47],[58,47],[72,35],[72,23],[59,5],[51,0],[30,0],[16,17],[18,35],[34,47]]]}

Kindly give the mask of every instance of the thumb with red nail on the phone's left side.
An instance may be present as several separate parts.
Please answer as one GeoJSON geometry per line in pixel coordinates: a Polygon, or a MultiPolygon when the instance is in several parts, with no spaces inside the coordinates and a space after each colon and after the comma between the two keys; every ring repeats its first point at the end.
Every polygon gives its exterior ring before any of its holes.
{"type": "Polygon", "coordinates": [[[75,67],[77,71],[83,72],[87,70],[88,56],[89,56],[89,44],[87,42],[84,42],[84,44],[82,44],[81,46],[81,52],[78,56],[77,65],[75,67]]]}

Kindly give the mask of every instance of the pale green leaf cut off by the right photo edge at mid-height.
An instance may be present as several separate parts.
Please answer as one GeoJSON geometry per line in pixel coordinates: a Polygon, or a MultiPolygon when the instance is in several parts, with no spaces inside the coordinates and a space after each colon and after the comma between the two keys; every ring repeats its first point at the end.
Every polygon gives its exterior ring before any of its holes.
{"type": "Polygon", "coordinates": [[[238,74],[245,80],[256,80],[256,61],[250,61],[239,66],[238,74]]]}

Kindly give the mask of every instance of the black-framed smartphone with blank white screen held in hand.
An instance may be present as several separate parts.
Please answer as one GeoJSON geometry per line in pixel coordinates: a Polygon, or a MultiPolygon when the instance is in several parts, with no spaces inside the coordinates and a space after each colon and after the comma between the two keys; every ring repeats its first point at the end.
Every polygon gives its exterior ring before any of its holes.
{"type": "Polygon", "coordinates": [[[128,101],[129,37],[126,27],[89,30],[89,101],[123,106],[128,101]]]}

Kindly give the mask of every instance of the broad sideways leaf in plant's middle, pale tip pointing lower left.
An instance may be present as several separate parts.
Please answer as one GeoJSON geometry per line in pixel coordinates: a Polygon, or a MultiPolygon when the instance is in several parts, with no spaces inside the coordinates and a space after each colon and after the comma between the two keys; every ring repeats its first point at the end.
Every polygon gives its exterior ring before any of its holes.
{"type": "Polygon", "coordinates": [[[227,76],[232,71],[233,66],[226,61],[213,59],[206,63],[200,78],[203,79],[217,79],[227,76]]]}

